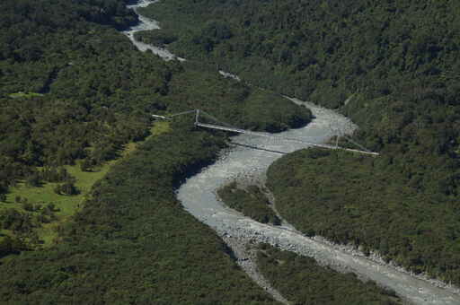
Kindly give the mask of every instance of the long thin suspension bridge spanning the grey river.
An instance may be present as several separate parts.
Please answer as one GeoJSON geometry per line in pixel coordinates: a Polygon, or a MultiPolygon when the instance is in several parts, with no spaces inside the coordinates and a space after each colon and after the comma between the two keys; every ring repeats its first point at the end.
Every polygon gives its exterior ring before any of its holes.
{"type": "Polygon", "coordinates": [[[208,129],[214,129],[214,130],[220,130],[220,131],[227,131],[227,132],[236,133],[236,134],[261,136],[261,137],[266,137],[266,138],[269,138],[271,140],[274,140],[274,141],[276,141],[278,143],[281,143],[283,141],[288,141],[288,142],[295,142],[297,144],[305,144],[305,146],[314,146],[314,147],[319,147],[319,148],[323,148],[323,149],[342,150],[342,151],[347,151],[347,152],[351,152],[351,153],[363,153],[363,154],[369,154],[369,155],[374,155],[374,156],[379,155],[379,153],[375,153],[375,152],[371,152],[371,151],[367,150],[365,147],[363,147],[362,145],[360,145],[360,144],[356,143],[355,141],[351,140],[346,135],[336,135],[336,143],[335,143],[335,145],[331,145],[331,144],[315,144],[315,143],[308,142],[308,141],[306,141],[305,139],[302,139],[302,138],[293,138],[293,137],[287,137],[287,136],[283,136],[283,135],[266,134],[266,133],[252,131],[252,130],[237,128],[237,127],[231,126],[229,124],[220,122],[219,120],[217,120],[217,118],[214,118],[213,116],[209,115],[208,113],[206,113],[205,111],[200,110],[200,109],[193,109],[193,110],[189,110],[189,111],[183,111],[183,112],[175,113],[175,114],[170,115],[170,116],[152,115],[152,117],[155,118],[155,119],[172,119],[172,118],[177,117],[177,116],[181,116],[181,115],[185,115],[185,114],[191,114],[191,113],[195,114],[194,125],[197,126],[197,127],[201,127],[201,128],[208,128],[208,129]],[[211,120],[215,121],[217,124],[209,124],[209,123],[205,123],[203,121],[200,121],[201,117],[211,118],[211,120]],[[343,137],[344,139],[348,140],[349,143],[358,146],[360,149],[353,149],[353,148],[339,146],[339,137],[340,136],[343,137]]]}

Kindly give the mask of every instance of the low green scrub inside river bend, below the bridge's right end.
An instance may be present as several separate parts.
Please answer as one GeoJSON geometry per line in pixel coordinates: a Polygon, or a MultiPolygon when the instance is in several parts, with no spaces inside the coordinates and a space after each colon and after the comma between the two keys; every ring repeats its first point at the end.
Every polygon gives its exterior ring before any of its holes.
{"type": "Polygon", "coordinates": [[[459,283],[458,202],[420,192],[387,167],[385,157],[299,151],[271,165],[269,187],[279,213],[300,231],[377,249],[414,272],[459,283]]]}

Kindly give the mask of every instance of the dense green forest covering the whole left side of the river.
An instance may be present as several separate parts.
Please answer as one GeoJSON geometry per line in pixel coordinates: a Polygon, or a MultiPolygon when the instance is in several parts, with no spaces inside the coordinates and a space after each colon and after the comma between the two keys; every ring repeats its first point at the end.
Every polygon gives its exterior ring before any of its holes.
{"type": "Polygon", "coordinates": [[[151,114],[204,109],[235,126],[280,131],[305,125],[311,112],[215,68],[137,51],[119,32],[137,22],[127,2],[0,3],[0,302],[274,304],[174,197],[226,135],[178,118],[147,137],[151,114]],[[67,166],[91,172],[140,140],[56,226],[52,246],[33,251],[27,237],[57,209],[6,200],[11,189],[54,183],[57,196],[76,196],[67,166]]]}

